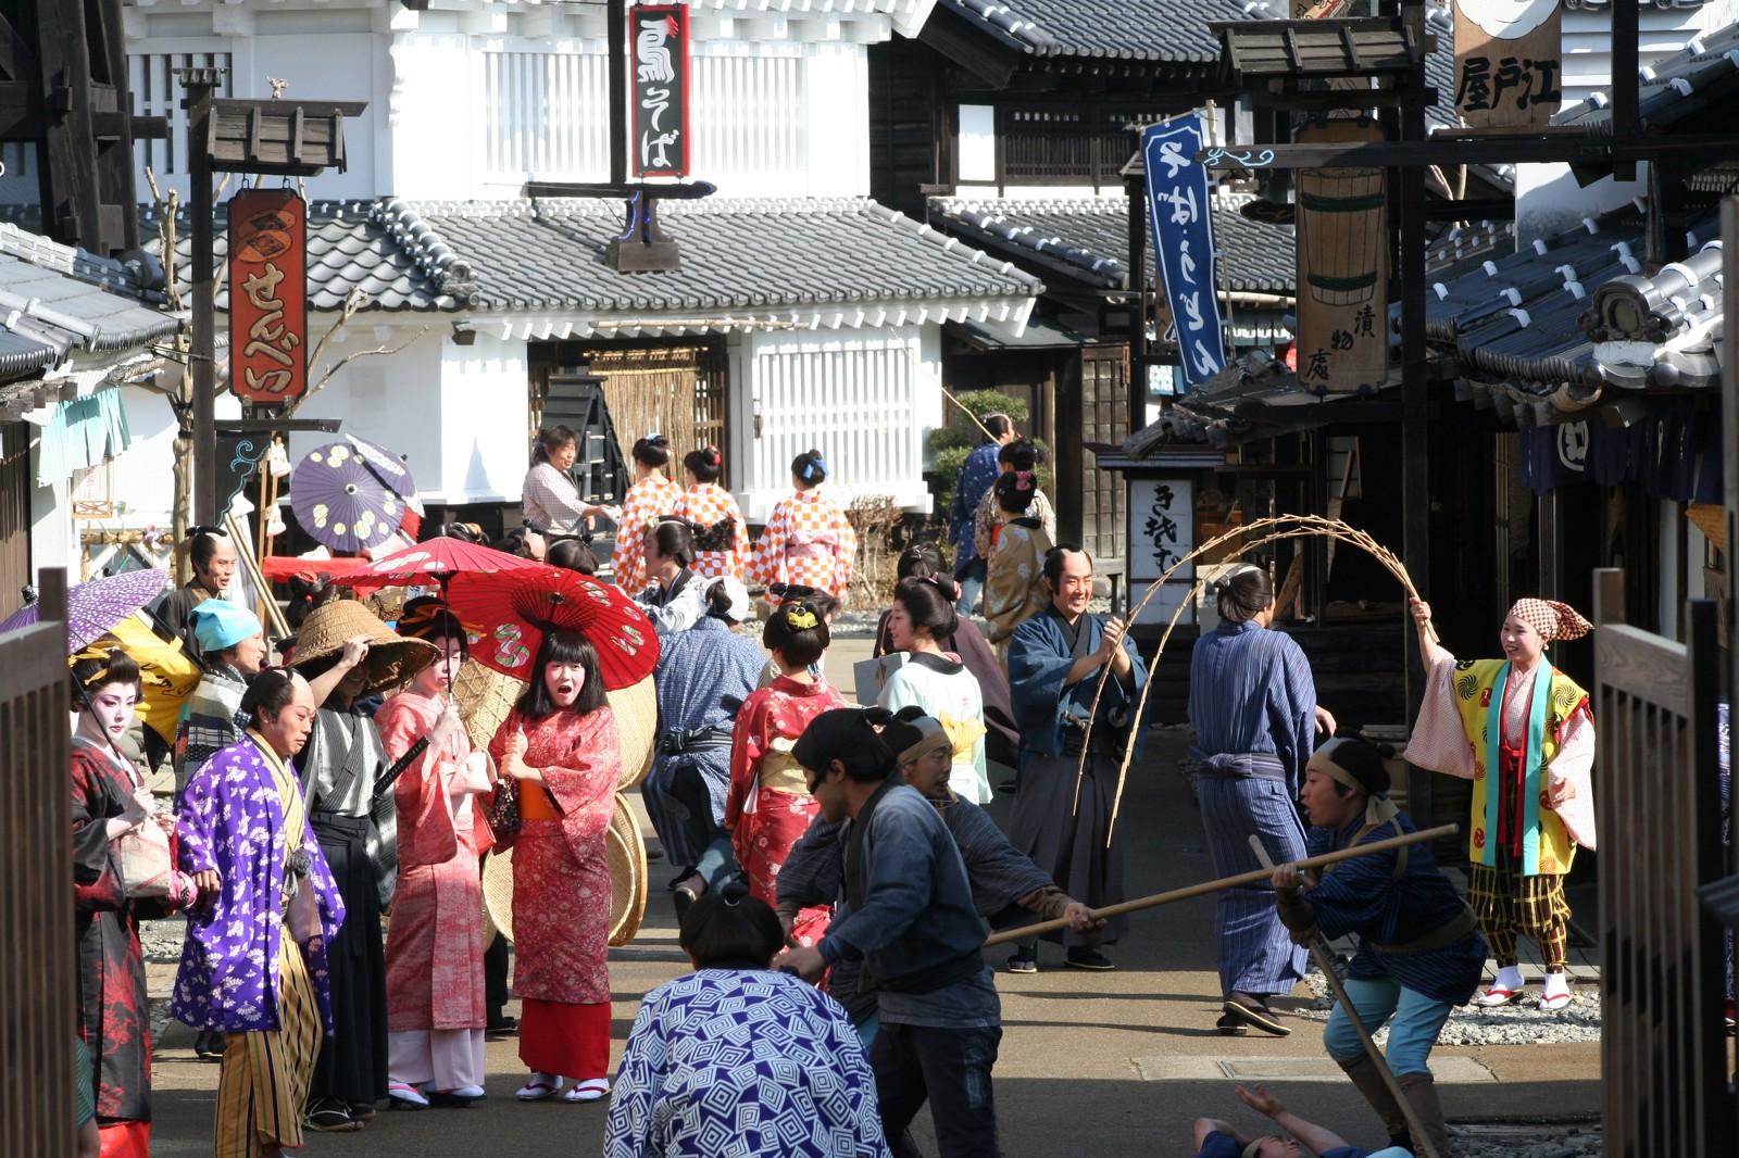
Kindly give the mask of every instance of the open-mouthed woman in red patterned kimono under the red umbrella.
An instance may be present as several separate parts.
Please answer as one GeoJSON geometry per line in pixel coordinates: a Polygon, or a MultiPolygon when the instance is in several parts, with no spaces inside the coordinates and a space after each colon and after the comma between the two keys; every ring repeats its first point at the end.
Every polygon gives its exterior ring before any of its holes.
{"type": "MultiPolygon", "coordinates": [[[[656,661],[656,652],[654,652],[656,661]]],[[[577,631],[544,631],[530,687],[489,746],[518,782],[513,836],[515,989],[520,1059],[532,1076],[520,1101],[574,1080],[565,1101],[610,1090],[610,866],[603,833],[621,765],[616,716],[598,652],[577,631]]]]}

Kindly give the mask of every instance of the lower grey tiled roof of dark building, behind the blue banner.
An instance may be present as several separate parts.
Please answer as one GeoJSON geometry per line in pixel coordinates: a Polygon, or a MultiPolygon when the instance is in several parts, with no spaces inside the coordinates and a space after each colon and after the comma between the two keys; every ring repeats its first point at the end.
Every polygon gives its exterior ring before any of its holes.
{"type": "MultiPolygon", "coordinates": [[[[1214,198],[1224,287],[1238,292],[1290,294],[1296,280],[1290,226],[1249,221],[1240,193],[1214,198]]],[[[1129,273],[1129,200],[972,200],[932,198],[930,221],[1017,261],[1054,270],[1101,289],[1122,289],[1129,273]]],[[[1149,243],[1151,245],[1151,243],[1149,243]]],[[[1151,268],[1151,252],[1149,252],[1151,268]]]]}

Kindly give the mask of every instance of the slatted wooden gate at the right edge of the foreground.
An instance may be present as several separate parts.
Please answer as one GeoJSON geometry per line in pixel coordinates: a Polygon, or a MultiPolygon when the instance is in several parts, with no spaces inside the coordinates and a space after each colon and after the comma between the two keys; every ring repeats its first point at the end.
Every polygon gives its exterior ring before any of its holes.
{"type": "Polygon", "coordinates": [[[1624,624],[1624,574],[1595,572],[1600,995],[1605,1153],[1732,1155],[1722,927],[1697,887],[1725,876],[1715,603],[1687,643],[1624,624]]]}

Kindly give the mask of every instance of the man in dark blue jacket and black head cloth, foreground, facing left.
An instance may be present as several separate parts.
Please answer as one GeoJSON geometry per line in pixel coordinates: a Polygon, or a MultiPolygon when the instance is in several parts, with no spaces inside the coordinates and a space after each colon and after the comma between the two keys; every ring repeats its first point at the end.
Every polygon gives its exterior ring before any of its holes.
{"type": "Polygon", "coordinates": [[[852,819],[845,835],[850,915],[817,944],[790,949],[774,965],[821,981],[828,965],[864,962],[882,1017],[870,1068],[882,1134],[897,1158],[916,1155],[904,1134],[925,1101],[943,1158],[995,1158],[991,1068],[1002,1002],[979,951],[984,925],[948,824],[894,775],[894,753],[876,734],[876,723],[890,718],[876,708],[824,711],[791,749],[821,812],[830,821],[852,819]]]}

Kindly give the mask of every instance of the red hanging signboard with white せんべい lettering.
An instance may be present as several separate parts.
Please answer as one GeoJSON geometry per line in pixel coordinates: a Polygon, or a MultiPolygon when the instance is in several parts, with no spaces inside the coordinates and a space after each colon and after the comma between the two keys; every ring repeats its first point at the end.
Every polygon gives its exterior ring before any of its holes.
{"type": "Polygon", "coordinates": [[[290,190],[230,198],[230,389],[264,403],[308,391],[308,207],[290,190]]]}

